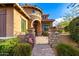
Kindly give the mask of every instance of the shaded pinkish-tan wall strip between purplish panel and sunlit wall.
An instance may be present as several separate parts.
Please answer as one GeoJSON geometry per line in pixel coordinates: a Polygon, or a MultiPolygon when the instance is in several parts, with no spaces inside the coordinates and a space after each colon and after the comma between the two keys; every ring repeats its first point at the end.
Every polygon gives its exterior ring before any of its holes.
{"type": "Polygon", "coordinates": [[[13,36],[13,8],[6,8],[6,36],[13,36]]]}

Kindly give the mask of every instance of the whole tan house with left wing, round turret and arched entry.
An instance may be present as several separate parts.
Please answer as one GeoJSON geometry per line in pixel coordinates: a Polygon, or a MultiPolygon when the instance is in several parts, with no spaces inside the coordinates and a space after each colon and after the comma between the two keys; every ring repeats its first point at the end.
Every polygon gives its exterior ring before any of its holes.
{"type": "Polygon", "coordinates": [[[0,37],[24,35],[30,28],[35,29],[36,35],[42,35],[46,31],[44,28],[49,28],[52,22],[38,7],[0,4],[0,37]],[[46,19],[43,19],[44,16],[46,19]]]}

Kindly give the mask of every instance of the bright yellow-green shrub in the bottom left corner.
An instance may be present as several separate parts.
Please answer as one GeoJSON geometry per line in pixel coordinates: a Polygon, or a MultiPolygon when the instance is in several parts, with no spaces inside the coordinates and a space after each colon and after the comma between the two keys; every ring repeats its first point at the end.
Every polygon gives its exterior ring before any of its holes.
{"type": "Polygon", "coordinates": [[[10,55],[12,49],[16,46],[17,43],[18,43],[18,38],[11,38],[1,42],[0,55],[2,56],[10,55]]]}

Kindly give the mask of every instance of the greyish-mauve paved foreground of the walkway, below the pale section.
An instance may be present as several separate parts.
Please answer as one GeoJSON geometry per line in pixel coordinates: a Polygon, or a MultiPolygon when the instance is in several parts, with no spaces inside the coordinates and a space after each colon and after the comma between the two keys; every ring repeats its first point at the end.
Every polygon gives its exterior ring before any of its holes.
{"type": "Polygon", "coordinates": [[[35,45],[32,56],[54,56],[54,52],[48,44],[39,44],[35,45]]]}

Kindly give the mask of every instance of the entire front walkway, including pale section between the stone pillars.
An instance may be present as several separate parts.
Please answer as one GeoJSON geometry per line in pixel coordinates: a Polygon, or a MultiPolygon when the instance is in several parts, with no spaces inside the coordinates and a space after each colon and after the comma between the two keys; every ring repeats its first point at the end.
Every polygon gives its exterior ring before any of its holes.
{"type": "Polygon", "coordinates": [[[55,56],[54,51],[48,45],[47,37],[36,37],[36,44],[33,48],[32,56],[55,56]]]}

